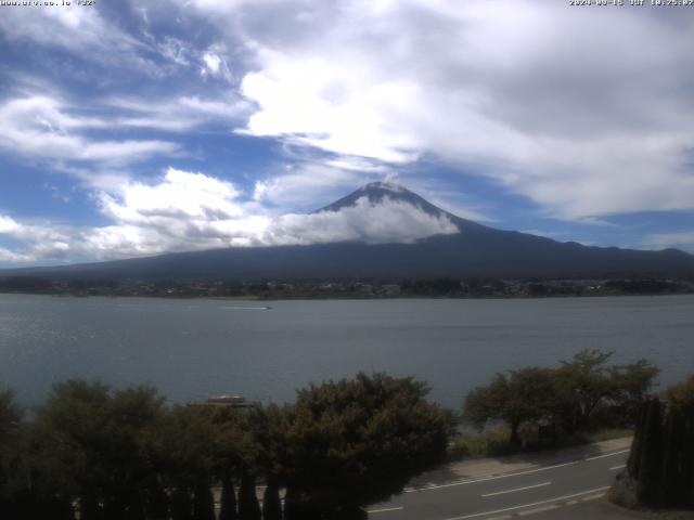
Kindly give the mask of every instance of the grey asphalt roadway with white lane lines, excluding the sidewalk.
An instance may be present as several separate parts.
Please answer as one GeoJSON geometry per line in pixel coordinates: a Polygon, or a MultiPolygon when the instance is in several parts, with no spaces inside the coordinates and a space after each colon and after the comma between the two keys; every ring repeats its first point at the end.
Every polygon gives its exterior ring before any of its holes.
{"type": "Polygon", "coordinates": [[[524,517],[601,498],[624,468],[628,450],[578,460],[406,489],[371,506],[371,520],[499,520],[524,517]]]}

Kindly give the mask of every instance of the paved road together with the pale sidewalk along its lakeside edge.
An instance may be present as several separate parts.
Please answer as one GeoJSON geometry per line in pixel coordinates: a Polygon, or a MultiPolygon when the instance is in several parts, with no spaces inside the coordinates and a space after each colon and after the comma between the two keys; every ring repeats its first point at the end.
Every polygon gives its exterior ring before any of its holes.
{"type": "MultiPolygon", "coordinates": [[[[604,500],[631,439],[442,466],[369,509],[372,520],[654,519],[604,500]]],[[[671,517],[694,519],[694,516],[671,517]]]]}

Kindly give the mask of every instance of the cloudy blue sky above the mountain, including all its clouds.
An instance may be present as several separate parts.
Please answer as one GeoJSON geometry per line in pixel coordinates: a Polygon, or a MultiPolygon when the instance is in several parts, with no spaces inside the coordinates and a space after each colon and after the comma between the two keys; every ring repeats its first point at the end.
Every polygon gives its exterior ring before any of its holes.
{"type": "Polygon", "coordinates": [[[694,252],[694,12],[567,3],[2,5],[0,265],[451,232],[305,214],[381,180],[694,252]]]}

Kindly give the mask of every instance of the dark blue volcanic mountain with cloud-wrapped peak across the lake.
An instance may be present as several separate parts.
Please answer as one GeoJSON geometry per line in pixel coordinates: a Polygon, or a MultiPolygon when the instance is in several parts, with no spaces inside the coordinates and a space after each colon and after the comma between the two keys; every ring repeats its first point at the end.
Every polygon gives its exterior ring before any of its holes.
{"type": "Polygon", "coordinates": [[[691,276],[694,257],[677,249],[641,251],[558,243],[500,231],[461,219],[394,184],[373,183],[317,213],[339,212],[368,197],[372,205],[408,204],[448,219],[458,233],[434,235],[412,244],[331,243],[215,249],[101,263],[0,272],[54,280],[298,280],[351,277],[582,277],[691,276]]]}

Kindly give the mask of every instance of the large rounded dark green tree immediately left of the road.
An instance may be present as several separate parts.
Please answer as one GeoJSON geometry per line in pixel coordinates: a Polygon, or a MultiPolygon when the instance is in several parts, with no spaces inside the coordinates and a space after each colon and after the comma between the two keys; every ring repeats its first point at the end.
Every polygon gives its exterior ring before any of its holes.
{"type": "Polygon", "coordinates": [[[300,390],[286,411],[287,518],[362,518],[360,507],[441,461],[452,414],[426,402],[427,391],[384,374],[300,390]]]}

